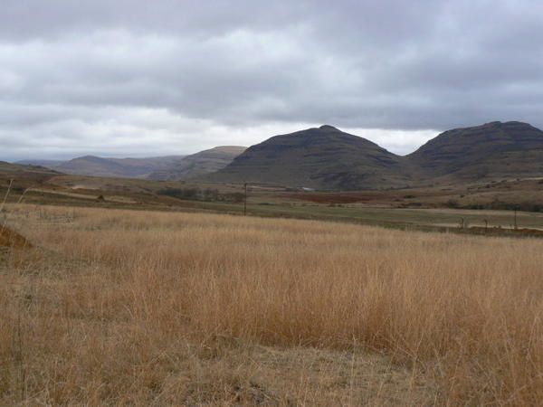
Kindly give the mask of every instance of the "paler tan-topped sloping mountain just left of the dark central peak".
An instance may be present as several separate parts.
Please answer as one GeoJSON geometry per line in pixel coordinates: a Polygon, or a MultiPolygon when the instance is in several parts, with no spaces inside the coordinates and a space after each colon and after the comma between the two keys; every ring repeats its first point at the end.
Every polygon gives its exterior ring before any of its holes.
{"type": "Polygon", "coordinates": [[[171,166],[153,172],[151,175],[148,175],[148,178],[172,181],[185,180],[213,173],[232,163],[233,159],[242,154],[246,148],[240,146],[220,146],[200,151],[177,160],[171,166]]]}

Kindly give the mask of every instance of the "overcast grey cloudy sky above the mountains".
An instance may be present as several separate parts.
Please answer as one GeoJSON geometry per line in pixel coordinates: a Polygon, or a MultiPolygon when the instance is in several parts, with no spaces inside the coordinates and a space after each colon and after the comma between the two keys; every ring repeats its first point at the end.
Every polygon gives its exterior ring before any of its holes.
{"type": "Polygon", "coordinates": [[[543,127],[539,0],[2,0],[0,159],[543,127]]]}

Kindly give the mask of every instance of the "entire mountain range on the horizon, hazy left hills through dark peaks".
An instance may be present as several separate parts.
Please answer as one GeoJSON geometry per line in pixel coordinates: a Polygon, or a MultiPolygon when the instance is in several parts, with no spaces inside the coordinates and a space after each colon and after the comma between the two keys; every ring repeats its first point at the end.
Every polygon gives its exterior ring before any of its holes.
{"type": "Polygon", "coordinates": [[[249,148],[214,147],[191,156],[82,156],[23,163],[75,175],[384,189],[543,177],[543,131],[519,121],[495,121],[445,131],[414,153],[396,156],[365,138],[322,126],[271,137],[249,148]]]}

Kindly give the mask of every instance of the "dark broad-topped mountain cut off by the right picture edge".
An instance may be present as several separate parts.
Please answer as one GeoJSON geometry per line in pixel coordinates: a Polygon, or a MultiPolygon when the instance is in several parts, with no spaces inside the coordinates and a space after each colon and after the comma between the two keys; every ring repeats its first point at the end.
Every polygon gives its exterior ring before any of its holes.
{"type": "Polygon", "coordinates": [[[455,128],[406,158],[433,180],[541,176],[543,131],[519,121],[455,128]]]}

